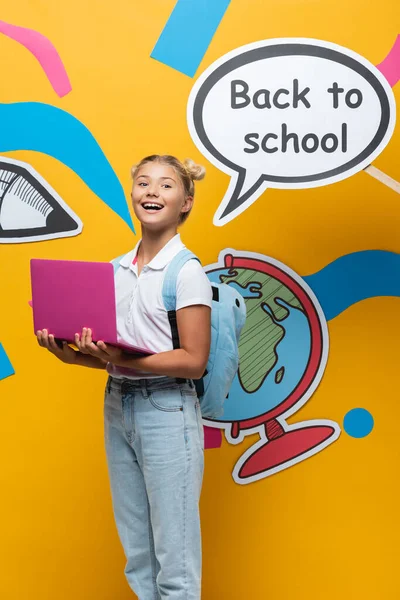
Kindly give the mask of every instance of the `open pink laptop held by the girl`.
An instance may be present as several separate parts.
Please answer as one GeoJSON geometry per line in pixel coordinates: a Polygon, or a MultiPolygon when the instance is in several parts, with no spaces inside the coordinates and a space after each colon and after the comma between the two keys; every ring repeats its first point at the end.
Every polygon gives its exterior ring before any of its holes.
{"type": "Polygon", "coordinates": [[[74,342],[75,333],[90,327],[94,341],[153,354],[118,340],[112,264],[33,258],[31,284],[35,332],[47,329],[59,340],[74,342]]]}

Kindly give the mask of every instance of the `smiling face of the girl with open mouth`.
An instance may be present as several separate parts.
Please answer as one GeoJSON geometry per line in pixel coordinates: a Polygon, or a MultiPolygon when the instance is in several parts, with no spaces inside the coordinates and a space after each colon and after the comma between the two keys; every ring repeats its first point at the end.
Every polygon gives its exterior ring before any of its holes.
{"type": "Polygon", "coordinates": [[[132,206],[142,225],[157,229],[177,227],[182,212],[191,209],[193,198],[185,197],[175,169],[159,162],[146,163],[136,173],[132,206]]]}

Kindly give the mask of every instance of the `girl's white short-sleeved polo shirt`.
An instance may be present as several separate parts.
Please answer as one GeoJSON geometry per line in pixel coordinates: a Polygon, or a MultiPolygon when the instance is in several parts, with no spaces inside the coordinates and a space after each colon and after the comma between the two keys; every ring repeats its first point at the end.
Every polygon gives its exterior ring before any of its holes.
{"type": "MultiPolygon", "coordinates": [[[[136,261],[140,242],[121,259],[115,274],[118,339],[152,352],[166,352],[172,350],[173,345],[162,286],[169,263],[185,246],[180,235],[175,235],[138,275],[136,261]]],[[[176,310],[195,304],[211,307],[212,290],[201,264],[190,260],[178,275],[176,310]]],[[[108,363],[107,371],[113,377],[157,377],[153,373],[116,367],[111,363],[108,363]]]]}

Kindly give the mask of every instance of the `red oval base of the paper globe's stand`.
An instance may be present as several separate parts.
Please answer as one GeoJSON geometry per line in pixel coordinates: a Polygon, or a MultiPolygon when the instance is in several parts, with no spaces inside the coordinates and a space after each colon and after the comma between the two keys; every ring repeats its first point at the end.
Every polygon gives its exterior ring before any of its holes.
{"type": "MultiPolygon", "coordinates": [[[[296,429],[286,431],[276,419],[265,423],[264,428],[267,440],[265,444],[260,446],[260,442],[257,442],[247,450],[246,455],[249,455],[238,470],[239,480],[254,477],[261,479],[268,474],[272,475],[270,471],[281,471],[295,462],[305,460],[317,453],[321,445],[326,446],[327,440],[337,433],[332,425],[314,423],[303,423],[296,426],[296,429]],[[253,447],[254,451],[251,452],[253,447]]],[[[242,460],[238,461],[237,467],[242,460]]]]}

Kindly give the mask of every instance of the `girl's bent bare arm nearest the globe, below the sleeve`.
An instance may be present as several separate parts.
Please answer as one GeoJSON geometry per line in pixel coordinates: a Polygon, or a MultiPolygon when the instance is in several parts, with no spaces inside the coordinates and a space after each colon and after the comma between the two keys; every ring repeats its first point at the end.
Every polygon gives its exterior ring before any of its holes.
{"type": "Polygon", "coordinates": [[[203,305],[181,308],[176,312],[176,320],[179,350],[140,358],[129,358],[129,355],[123,354],[115,364],[156,375],[200,379],[204,374],[210,353],[211,309],[203,305]]]}

